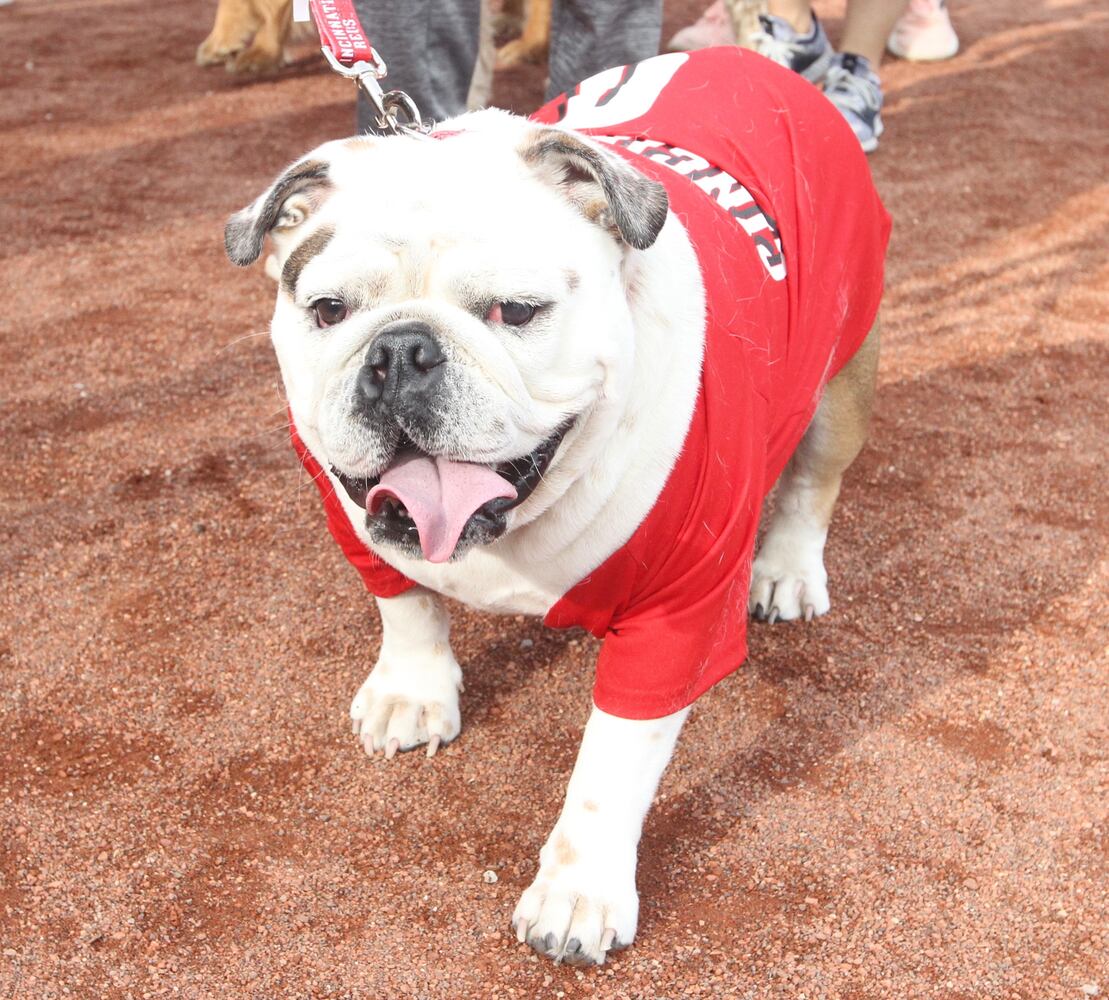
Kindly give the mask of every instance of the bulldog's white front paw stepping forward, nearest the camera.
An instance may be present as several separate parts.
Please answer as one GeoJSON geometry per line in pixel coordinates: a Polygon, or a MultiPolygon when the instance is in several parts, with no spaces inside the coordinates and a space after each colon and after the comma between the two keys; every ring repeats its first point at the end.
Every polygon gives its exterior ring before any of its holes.
{"type": "Polygon", "coordinates": [[[579,856],[556,830],[512,914],[517,939],[557,962],[580,966],[601,965],[609,951],[630,945],[639,920],[634,847],[624,854],[579,856]]]}

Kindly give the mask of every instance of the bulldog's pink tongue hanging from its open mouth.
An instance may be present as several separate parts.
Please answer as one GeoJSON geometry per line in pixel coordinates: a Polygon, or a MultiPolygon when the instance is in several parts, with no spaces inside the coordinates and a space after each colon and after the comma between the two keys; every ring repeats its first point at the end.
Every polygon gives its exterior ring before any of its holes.
{"type": "Polygon", "coordinates": [[[446,562],[466,522],[482,504],[516,498],[516,488],[487,466],[454,462],[427,455],[406,455],[381,473],[366,496],[366,510],[377,513],[387,497],[408,509],[428,562],[446,562]]]}

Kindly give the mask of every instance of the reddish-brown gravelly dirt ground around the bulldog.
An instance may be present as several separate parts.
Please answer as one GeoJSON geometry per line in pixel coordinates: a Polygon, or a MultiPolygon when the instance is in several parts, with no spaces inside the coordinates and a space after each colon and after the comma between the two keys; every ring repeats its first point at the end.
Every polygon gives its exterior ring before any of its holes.
{"type": "Polygon", "coordinates": [[[349,735],[376,614],[221,235],[350,130],[349,85],[311,51],[197,69],[208,0],[0,9],[0,1000],[1109,993],[1109,14],[953,6],[956,59],[884,70],[885,356],[833,611],[753,627],[695,710],[639,940],[594,971],[507,933],[591,639],[458,610],[462,738],[349,735]]]}

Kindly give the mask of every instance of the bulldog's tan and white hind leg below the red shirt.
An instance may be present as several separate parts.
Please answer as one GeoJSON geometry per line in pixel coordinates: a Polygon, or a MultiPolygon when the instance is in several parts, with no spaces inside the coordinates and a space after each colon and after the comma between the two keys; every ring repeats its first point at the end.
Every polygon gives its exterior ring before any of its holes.
{"type": "Polygon", "coordinates": [[[827,384],[812,424],[779,479],[774,516],[751,574],[747,609],[761,621],[806,621],[831,606],[824,542],[843,473],[866,440],[878,367],[875,323],[827,384]]]}

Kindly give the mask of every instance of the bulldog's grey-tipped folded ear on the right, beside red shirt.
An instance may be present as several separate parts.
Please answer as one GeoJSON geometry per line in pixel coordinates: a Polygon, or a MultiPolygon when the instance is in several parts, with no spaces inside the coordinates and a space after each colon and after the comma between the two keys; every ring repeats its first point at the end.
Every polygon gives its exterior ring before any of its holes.
{"type": "Polygon", "coordinates": [[[561,129],[533,133],[520,155],[588,218],[614,229],[629,246],[647,249],[658,238],[667,221],[667,190],[619,156],[561,129]]]}

